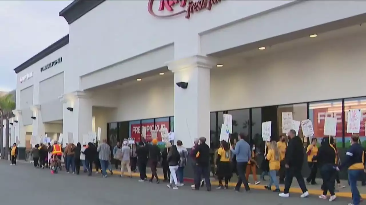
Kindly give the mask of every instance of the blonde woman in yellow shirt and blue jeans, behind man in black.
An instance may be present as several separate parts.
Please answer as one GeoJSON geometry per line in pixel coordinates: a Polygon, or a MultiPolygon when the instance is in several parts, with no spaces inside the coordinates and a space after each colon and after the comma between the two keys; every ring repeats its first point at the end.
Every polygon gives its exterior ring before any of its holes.
{"type": "Polygon", "coordinates": [[[268,153],[266,159],[269,161],[269,184],[264,186],[268,190],[272,190],[272,185],[275,185],[276,189],[273,192],[281,192],[280,186],[277,181],[277,171],[280,169],[280,151],[277,147],[276,141],[271,141],[268,146],[268,153]]]}

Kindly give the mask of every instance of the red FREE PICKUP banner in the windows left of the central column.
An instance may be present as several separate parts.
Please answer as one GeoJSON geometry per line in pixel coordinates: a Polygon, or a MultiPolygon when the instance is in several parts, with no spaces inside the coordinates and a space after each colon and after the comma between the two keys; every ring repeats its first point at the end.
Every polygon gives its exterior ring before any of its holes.
{"type": "MultiPolygon", "coordinates": [[[[146,127],[146,141],[150,142],[151,138],[151,130],[154,129],[154,122],[151,123],[142,123],[141,127],[146,127]]],[[[131,124],[131,138],[134,138],[136,142],[141,141],[141,127],[140,124],[131,124]]],[[[161,142],[161,128],[168,128],[169,131],[169,121],[165,122],[155,122],[155,129],[157,130],[158,141],[161,142]]]]}

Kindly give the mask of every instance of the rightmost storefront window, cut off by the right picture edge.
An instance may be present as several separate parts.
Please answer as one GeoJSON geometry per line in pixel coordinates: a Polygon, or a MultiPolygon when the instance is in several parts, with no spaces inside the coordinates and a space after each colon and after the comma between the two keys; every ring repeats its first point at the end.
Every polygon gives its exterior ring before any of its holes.
{"type": "Polygon", "coordinates": [[[350,147],[351,133],[347,133],[347,120],[348,111],[351,109],[361,110],[361,124],[360,124],[360,140],[363,147],[366,147],[366,134],[365,134],[365,123],[366,123],[366,97],[362,98],[348,98],[344,99],[344,146],[350,147]]]}

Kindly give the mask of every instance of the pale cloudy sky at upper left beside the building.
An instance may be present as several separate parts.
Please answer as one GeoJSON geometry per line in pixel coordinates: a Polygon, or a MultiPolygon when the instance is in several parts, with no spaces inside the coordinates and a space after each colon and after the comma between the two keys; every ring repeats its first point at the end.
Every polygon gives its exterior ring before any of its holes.
{"type": "Polygon", "coordinates": [[[0,1],[0,91],[16,88],[15,67],[67,35],[59,12],[72,1],[0,1]]]}

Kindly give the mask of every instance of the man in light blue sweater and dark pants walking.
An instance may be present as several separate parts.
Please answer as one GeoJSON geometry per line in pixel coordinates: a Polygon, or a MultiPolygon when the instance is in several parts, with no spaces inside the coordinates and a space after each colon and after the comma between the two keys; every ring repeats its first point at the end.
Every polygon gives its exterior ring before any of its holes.
{"type": "Polygon", "coordinates": [[[251,157],[251,150],[250,145],[244,140],[243,134],[239,134],[239,142],[236,143],[235,149],[230,147],[230,150],[236,156],[236,171],[238,172],[238,183],[236,183],[235,191],[239,192],[243,183],[246,192],[249,192],[250,187],[245,177],[245,173],[251,157]]]}

